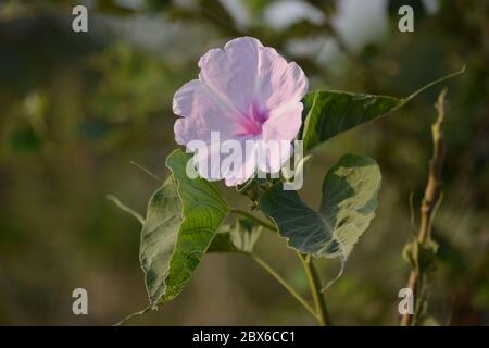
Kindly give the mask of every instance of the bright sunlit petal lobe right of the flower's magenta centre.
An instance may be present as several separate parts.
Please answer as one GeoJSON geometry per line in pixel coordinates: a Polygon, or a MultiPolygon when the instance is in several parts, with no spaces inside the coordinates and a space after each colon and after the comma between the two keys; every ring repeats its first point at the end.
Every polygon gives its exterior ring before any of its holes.
{"type": "Polygon", "coordinates": [[[263,124],[263,139],[292,141],[302,124],[303,104],[292,101],[269,112],[268,120],[263,124]]]}

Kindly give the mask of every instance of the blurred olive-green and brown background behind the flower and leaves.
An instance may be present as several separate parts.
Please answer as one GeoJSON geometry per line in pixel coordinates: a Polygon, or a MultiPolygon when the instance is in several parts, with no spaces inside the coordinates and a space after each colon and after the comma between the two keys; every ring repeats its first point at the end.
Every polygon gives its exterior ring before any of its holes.
{"type": "MultiPolygon", "coordinates": [[[[403,97],[467,65],[447,84],[429,322],[489,324],[488,18],[489,2],[477,0],[0,1],[0,324],[111,325],[147,306],[140,226],[106,195],[145,213],[159,183],[130,161],[166,175],[173,94],[208,49],[243,35],[297,61],[312,89],[403,97]],[[72,30],[78,3],[89,10],[86,34],[72,30]],[[415,10],[414,33],[398,30],[402,4],[415,10]],[[72,313],[77,287],[88,290],[89,315],[72,313]]],[[[328,141],[305,173],[301,195],[316,206],[317,185],[342,153],[374,157],[383,171],[377,217],[327,291],[337,324],[398,324],[409,272],[401,251],[415,232],[410,196],[417,207],[440,88],[328,141]]],[[[256,252],[306,294],[284,240],[263,234],[256,252]]],[[[339,270],[319,263],[325,279],[339,270]]],[[[130,323],[314,321],[250,258],[209,254],[176,300],[130,323]]]]}

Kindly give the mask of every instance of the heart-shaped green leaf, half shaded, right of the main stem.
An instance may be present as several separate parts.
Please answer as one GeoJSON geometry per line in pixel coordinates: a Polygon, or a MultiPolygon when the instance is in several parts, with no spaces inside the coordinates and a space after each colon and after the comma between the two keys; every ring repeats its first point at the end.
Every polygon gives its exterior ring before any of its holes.
{"type": "Polygon", "coordinates": [[[346,154],[326,174],[319,211],[297,191],[277,184],[260,199],[291,248],[317,257],[346,259],[368,227],[377,208],[380,170],[369,158],[346,154]]]}

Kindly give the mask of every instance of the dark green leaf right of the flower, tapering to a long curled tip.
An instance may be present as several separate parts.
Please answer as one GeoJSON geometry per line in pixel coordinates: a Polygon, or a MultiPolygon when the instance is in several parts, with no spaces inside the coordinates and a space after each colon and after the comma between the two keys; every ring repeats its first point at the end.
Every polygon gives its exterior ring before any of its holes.
{"type": "Polygon", "coordinates": [[[336,90],[317,90],[305,95],[302,113],[304,125],[301,132],[304,151],[309,152],[337,134],[401,108],[425,89],[460,75],[464,71],[465,66],[456,73],[424,86],[408,98],[401,99],[336,90]]]}

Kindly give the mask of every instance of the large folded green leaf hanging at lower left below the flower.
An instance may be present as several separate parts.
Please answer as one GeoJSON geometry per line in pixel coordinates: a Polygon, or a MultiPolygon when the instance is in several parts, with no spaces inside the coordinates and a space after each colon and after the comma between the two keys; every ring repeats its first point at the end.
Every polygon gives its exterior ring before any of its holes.
{"type": "Polygon", "coordinates": [[[187,176],[189,159],[180,150],[168,156],[172,175],[151,197],[142,227],[140,262],[152,308],[184,289],[229,210],[214,184],[187,176]]]}

